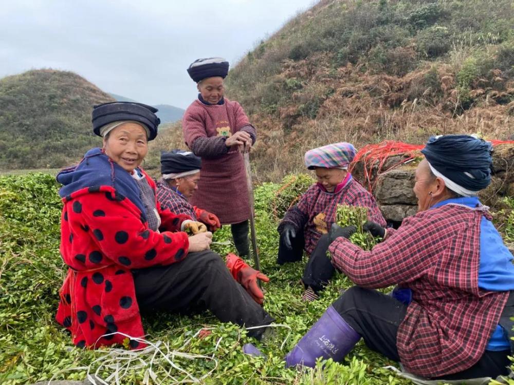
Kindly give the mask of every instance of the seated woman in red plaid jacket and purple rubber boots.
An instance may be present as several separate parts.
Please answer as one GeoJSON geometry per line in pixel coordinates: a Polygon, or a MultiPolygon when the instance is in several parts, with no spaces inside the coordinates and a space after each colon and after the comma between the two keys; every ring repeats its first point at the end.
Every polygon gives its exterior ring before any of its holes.
{"type": "Polygon", "coordinates": [[[433,137],[422,150],[414,192],[418,214],[372,251],[333,225],[333,264],[358,286],[347,290],[287,355],[287,365],[340,361],[362,337],[406,371],[435,379],[497,377],[508,371],[514,315],[512,254],[477,195],[489,185],[490,143],[433,137]],[[392,296],[375,288],[397,285],[392,296]]]}

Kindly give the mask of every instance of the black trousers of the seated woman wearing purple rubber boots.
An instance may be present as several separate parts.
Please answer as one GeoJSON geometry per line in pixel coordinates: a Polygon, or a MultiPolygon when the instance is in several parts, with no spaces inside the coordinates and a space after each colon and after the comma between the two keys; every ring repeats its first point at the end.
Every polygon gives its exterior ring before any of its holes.
{"type": "MultiPolygon", "coordinates": [[[[514,298],[514,296],[511,296],[514,298]]],[[[334,309],[359,333],[366,345],[384,356],[400,361],[396,348],[398,327],[405,318],[407,305],[396,299],[359,286],[349,288],[333,304],[334,309]]],[[[496,378],[507,374],[508,351],[485,351],[471,368],[434,379],[496,378]]]]}

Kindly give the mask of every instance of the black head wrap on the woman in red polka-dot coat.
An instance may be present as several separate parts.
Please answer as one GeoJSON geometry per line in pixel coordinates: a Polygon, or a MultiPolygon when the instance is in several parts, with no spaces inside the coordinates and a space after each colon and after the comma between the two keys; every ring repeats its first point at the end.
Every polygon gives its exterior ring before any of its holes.
{"type": "Polygon", "coordinates": [[[99,104],[93,108],[93,132],[101,136],[100,128],[106,124],[132,120],[144,124],[150,131],[148,140],[153,140],[157,136],[157,126],[160,123],[160,119],[155,114],[157,111],[157,108],[142,103],[111,102],[99,104]]]}

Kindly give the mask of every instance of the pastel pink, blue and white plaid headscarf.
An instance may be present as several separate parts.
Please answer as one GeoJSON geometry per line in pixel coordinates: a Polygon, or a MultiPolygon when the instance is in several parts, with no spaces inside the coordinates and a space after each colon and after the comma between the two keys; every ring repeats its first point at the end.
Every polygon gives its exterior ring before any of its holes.
{"type": "Polygon", "coordinates": [[[355,158],[357,150],[351,143],[328,144],[305,152],[305,166],[309,170],[316,167],[347,169],[355,158]]]}

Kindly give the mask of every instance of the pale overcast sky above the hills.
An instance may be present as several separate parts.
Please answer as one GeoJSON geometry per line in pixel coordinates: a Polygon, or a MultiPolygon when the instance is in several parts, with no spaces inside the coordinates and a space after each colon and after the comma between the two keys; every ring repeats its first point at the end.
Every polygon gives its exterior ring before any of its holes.
{"type": "Polygon", "coordinates": [[[106,92],[186,108],[199,57],[235,64],[315,0],[15,0],[0,7],[0,78],[77,72],[106,92]]]}

